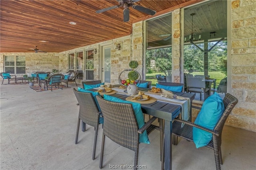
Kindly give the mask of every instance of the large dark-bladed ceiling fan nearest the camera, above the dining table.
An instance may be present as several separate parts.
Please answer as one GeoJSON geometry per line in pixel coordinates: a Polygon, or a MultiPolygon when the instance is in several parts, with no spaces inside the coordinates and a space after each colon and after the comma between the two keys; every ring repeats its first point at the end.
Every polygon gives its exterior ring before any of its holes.
{"type": "Polygon", "coordinates": [[[154,10],[151,10],[149,8],[145,8],[143,6],[135,5],[134,3],[138,2],[138,1],[140,1],[140,0],[117,0],[119,5],[110,6],[108,8],[98,10],[98,11],[96,11],[96,13],[102,13],[102,12],[105,12],[105,11],[108,11],[108,10],[113,10],[113,9],[120,8],[121,6],[123,6],[124,7],[124,22],[129,21],[129,7],[130,6],[132,6],[132,8],[135,9],[135,10],[138,10],[140,12],[144,12],[144,13],[152,15],[152,16],[154,14],[156,14],[156,11],[154,11],[154,10]]]}

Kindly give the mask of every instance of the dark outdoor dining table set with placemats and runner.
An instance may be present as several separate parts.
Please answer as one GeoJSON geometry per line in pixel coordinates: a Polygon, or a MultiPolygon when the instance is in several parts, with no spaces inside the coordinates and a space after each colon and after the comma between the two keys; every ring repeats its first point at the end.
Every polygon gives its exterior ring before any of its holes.
{"type": "MultiPolygon", "coordinates": [[[[117,87],[117,86],[115,86],[117,87]]],[[[90,89],[91,91],[96,91],[96,89],[90,89]]],[[[139,91],[148,92],[150,88],[138,88],[139,91]]],[[[184,93],[184,92],[173,92],[178,96],[185,98],[190,98],[191,104],[194,100],[194,94],[184,93]]],[[[129,95],[116,93],[111,94],[116,98],[126,100],[129,95]]],[[[164,169],[172,169],[172,121],[177,117],[181,112],[181,106],[177,104],[172,104],[171,102],[161,102],[156,101],[151,104],[141,104],[141,109],[143,113],[164,119],[164,169]]],[[[192,109],[190,108],[190,118],[188,121],[191,121],[192,109]]],[[[83,124],[83,123],[82,123],[83,124]]]]}

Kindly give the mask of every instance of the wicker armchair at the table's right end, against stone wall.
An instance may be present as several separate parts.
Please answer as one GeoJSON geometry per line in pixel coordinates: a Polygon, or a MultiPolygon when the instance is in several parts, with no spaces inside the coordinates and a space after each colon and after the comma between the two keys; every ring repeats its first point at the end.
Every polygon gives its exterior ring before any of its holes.
{"type": "MultiPolygon", "coordinates": [[[[238,100],[236,97],[227,93],[223,99],[223,102],[224,102],[225,110],[222,113],[220,120],[218,121],[218,123],[216,124],[213,130],[202,127],[200,125],[197,125],[189,121],[184,121],[179,118],[175,118],[174,122],[172,123],[172,134],[178,137],[184,138],[188,141],[193,141],[193,127],[197,127],[204,131],[212,133],[213,135],[212,141],[210,141],[210,143],[208,143],[208,145],[206,145],[205,147],[208,147],[214,150],[217,170],[220,170],[220,164],[222,164],[222,154],[221,154],[221,148],[220,148],[222,129],[226,119],[228,118],[228,115],[230,114],[234,106],[236,106],[238,100]],[[182,123],[184,123],[184,127],[182,127],[182,123]]],[[[191,106],[191,107],[194,107],[194,106],[191,106]]],[[[200,107],[194,107],[194,108],[201,109],[200,107]]],[[[173,141],[173,145],[177,145],[177,143],[173,141]]]]}

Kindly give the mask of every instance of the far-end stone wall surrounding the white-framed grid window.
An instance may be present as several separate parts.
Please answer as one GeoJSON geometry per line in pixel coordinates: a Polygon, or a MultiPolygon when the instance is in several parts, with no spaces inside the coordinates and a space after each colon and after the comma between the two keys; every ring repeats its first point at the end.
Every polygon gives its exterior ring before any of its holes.
{"type": "MultiPolygon", "coordinates": [[[[4,56],[26,56],[26,73],[59,70],[59,53],[0,53],[0,72],[4,71],[4,56]]],[[[16,74],[17,77],[24,74],[16,74]]]]}

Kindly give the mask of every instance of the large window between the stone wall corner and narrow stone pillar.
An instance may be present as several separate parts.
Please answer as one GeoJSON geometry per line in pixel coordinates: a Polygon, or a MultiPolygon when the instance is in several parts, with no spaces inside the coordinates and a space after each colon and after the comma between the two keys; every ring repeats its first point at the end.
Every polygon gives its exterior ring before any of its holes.
{"type": "Polygon", "coordinates": [[[172,70],[172,13],[146,21],[146,80],[156,86],[156,74],[172,70]]]}

